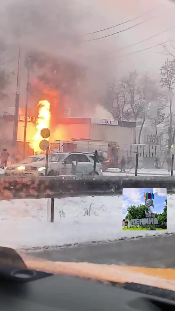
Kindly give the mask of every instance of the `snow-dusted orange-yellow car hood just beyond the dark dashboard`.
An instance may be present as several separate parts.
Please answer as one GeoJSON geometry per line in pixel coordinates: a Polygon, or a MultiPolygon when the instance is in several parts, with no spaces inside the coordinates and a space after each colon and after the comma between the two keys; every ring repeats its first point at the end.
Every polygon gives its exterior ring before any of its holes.
{"type": "Polygon", "coordinates": [[[31,269],[113,281],[133,282],[175,291],[175,269],[160,269],[132,266],[94,264],[89,262],[52,262],[21,254],[26,266],[31,269]]]}

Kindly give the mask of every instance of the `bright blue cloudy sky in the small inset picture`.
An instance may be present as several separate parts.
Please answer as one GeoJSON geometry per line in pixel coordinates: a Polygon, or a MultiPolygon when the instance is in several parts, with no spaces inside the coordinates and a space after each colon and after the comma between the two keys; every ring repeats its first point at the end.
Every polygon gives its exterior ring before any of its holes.
{"type": "Polygon", "coordinates": [[[130,205],[144,204],[144,193],[154,193],[154,212],[163,213],[165,200],[167,198],[166,188],[123,188],[123,219],[127,215],[127,208],[130,205]]]}

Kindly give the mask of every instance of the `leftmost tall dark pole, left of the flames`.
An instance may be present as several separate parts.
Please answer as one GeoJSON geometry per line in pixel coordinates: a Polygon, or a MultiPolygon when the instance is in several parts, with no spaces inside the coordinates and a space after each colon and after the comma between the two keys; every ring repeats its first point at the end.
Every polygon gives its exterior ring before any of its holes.
{"type": "Polygon", "coordinates": [[[13,123],[13,142],[12,146],[13,150],[13,161],[15,162],[17,153],[17,134],[18,134],[18,118],[19,118],[19,63],[20,63],[20,56],[21,56],[21,47],[19,46],[19,53],[18,53],[18,66],[17,66],[17,89],[15,95],[15,113],[14,113],[14,123],[13,123]]]}

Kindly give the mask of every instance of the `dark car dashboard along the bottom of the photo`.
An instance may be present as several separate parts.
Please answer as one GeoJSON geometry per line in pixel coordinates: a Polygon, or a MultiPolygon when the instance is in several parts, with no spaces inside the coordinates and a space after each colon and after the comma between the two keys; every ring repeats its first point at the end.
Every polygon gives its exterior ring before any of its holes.
{"type": "Polygon", "coordinates": [[[175,293],[133,283],[117,284],[53,275],[14,266],[0,268],[0,310],[165,310],[175,293]]]}

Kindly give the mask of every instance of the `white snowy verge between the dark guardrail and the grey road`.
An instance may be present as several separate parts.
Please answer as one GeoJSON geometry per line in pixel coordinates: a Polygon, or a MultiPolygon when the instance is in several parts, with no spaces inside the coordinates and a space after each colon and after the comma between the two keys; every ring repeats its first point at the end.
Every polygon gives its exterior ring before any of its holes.
{"type": "MultiPolygon", "coordinates": [[[[175,195],[167,196],[167,229],[175,232],[175,195]]],[[[153,235],[122,231],[122,196],[55,200],[54,224],[47,220],[47,199],[0,204],[0,246],[32,248],[153,235]]],[[[156,234],[165,234],[156,231],[156,234]]]]}

